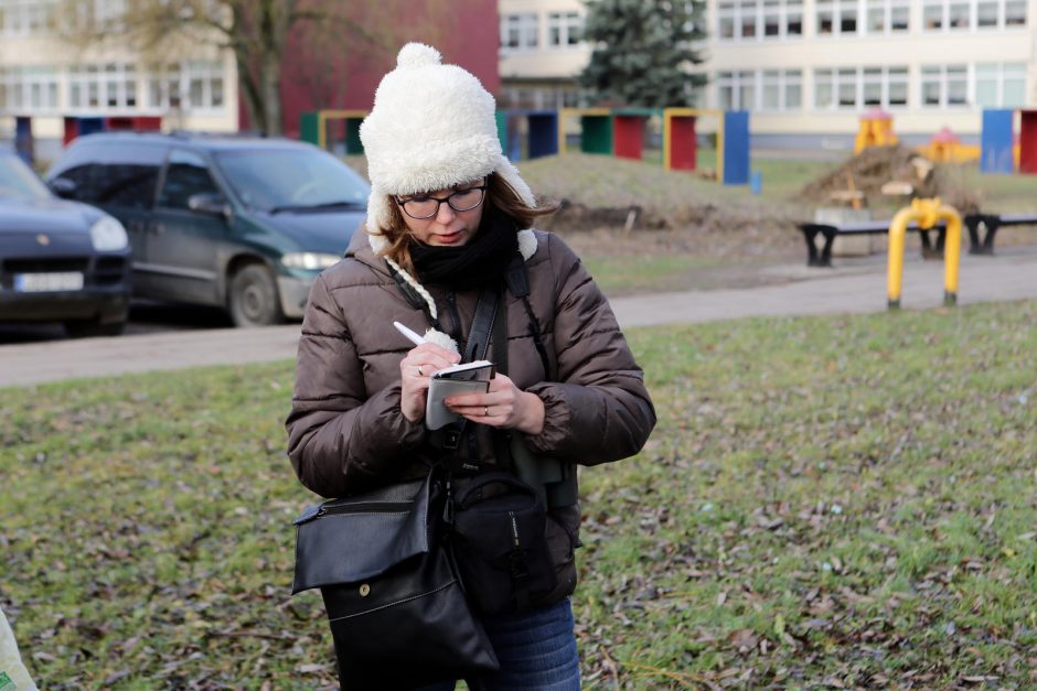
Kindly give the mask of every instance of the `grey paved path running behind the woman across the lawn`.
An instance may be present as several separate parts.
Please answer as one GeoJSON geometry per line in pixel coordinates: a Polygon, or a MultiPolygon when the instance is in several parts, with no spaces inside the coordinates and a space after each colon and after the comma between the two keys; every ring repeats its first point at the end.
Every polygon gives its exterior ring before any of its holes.
{"type": "MultiPolygon", "coordinates": [[[[880,257],[836,269],[790,266],[761,271],[777,272],[791,282],[618,298],[612,300],[612,309],[623,327],[886,310],[885,261],[880,257]]],[[[942,262],[909,260],[904,276],[904,309],[938,306],[942,299],[942,262]]],[[[961,304],[1025,299],[1037,299],[1037,248],[1006,248],[994,258],[962,257],[961,304]]],[[[293,324],[0,345],[0,387],[291,358],[298,334],[299,325],[293,324]]]]}

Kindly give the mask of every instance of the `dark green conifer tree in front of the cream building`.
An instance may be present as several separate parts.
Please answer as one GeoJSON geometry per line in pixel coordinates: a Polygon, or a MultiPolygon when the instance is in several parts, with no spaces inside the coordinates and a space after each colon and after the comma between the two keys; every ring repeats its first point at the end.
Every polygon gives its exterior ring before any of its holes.
{"type": "Polygon", "coordinates": [[[595,46],[580,82],[599,102],[642,108],[691,106],[706,83],[704,0],[588,0],[585,37],[595,46]]]}

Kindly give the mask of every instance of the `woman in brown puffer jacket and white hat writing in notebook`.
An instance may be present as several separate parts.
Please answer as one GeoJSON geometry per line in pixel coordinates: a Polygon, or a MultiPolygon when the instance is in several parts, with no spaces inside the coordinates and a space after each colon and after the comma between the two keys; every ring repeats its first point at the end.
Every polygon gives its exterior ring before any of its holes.
{"type": "MultiPolygon", "coordinates": [[[[594,465],[640,451],[655,424],[641,369],[576,255],[531,230],[538,208],[503,156],[493,97],[475,77],[408,44],[361,127],[372,193],[366,233],[310,293],[287,421],[302,484],[325,497],[420,477],[443,453],[423,424],[429,376],[460,361],[479,293],[510,267],[530,294],[503,295],[506,360],[487,393],[447,404],[467,421],[463,467],[493,467],[509,432],[533,454],[594,465]],[[523,269],[524,267],[524,269],[523,269]],[[414,347],[393,326],[426,331],[414,347]]],[[[578,689],[568,596],[580,520],[575,492],[550,500],[557,585],[521,613],[483,624],[501,661],[480,688],[578,689]]]]}

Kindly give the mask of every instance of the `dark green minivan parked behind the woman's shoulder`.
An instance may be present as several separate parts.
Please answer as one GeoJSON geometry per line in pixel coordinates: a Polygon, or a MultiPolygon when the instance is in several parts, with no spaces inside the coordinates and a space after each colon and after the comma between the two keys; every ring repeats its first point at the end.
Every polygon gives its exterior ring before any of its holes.
{"type": "Polygon", "coordinates": [[[222,306],[238,326],[302,316],[370,192],[312,144],[229,134],[89,134],[46,180],[122,222],[135,296],[222,306]]]}

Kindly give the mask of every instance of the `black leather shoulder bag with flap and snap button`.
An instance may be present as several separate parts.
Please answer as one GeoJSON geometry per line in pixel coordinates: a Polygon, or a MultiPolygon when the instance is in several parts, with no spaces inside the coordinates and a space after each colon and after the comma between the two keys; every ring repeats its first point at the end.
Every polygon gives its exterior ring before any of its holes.
{"type": "Polygon", "coordinates": [[[414,689],[499,669],[446,541],[437,471],[310,507],[292,594],[319,587],[343,690],[414,689]]]}

